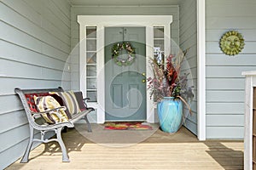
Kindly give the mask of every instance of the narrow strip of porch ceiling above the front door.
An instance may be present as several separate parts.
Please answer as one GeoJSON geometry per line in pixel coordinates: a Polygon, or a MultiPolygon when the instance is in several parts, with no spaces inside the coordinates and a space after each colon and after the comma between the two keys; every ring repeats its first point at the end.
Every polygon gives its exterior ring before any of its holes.
{"type": "Polygon", "coordinates": [[[177,5],[181,0],[69,0],[73,6],[138,6],[138,5],[177,5]]]}

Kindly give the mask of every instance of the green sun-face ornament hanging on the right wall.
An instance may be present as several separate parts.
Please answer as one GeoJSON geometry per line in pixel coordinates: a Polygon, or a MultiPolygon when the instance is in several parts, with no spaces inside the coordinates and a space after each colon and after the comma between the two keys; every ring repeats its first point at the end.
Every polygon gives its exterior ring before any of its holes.
{"type": "Polygon", "coordinates": [[[238,31],[225,32],[219,41],[221,50],[227,55],[239,54],[244,45],[244,39],[238,31]]]}

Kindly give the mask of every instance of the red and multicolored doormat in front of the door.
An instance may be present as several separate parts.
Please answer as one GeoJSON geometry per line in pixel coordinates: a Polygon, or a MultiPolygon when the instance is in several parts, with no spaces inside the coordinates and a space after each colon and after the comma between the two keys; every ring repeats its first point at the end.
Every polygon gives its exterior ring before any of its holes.
{"type": "Polygon", "coordinates": [[[147,122],[106,122],[106,130],[152,130],[147,122]]]}

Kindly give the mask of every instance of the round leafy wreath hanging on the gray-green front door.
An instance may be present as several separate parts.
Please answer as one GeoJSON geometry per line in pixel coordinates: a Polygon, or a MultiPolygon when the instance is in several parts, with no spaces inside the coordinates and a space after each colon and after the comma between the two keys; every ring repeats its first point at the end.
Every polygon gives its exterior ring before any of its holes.
{"type": "Polygon", "coordinates": [[[135,49],[131,46],[130,42],[117,42],[113,45],[112,59],[117,65],[131,65],[135,58],[135,49]],[[128,54],[126,59],[123,59],[119,56],[122,50],[126,50],[128,54]]]}

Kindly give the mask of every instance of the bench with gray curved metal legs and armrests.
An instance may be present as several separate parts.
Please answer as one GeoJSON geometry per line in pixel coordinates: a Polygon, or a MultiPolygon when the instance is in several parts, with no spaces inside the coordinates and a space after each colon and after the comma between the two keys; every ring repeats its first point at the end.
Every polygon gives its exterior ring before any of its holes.
{"type": "MultiPolygon", "coordinates": [[[[66,110],[67,108],[65,106],[61,106],[59,108],[56,108],[51,111],[44,111],[44,112],[35,112],[32,110],[31,101],[32,99],[27,99],[27,94],[49,94],[49,92],[63,92],[62,88],[49,88],[49,89],[20,89],[15,88],[15,93],[19,95],[22,105],[24,106],[26,116],[29,122],[29,129],[30,129],[30,138],[29,142],[26,147],[26,152],[24,156],[21,159],[21,163],[26,163],[28,161],[29,153],[32,147],[33,142],[39,142],[39,143],[48,143],[52,141],[56,141],[60,144],[61,150],[62,150],[62,161],[69,161],[69,158],[67,156],[67,150],[65,147],[65,144],[63,143],[63,140],[61,138],[61,130],[63,127],[74,127],[74,122],[79,121],[80,119],[84,118],[85,122],[88,126],[88,132],[91,132],[90,128],[90,122],[88,121],[87,115],[90,113],[90,111],[94,111],[93,108],[88,108],[85,101],[88,99],[84,99],[84,108],[86,108],[84,111],[81,111],[77,114],[74,114],[71,119],[69,119],[67,122],[57,122],[55,124],[46,123],[45,121],[42,121],[42,114],[50,113],[52,114],[52,111],[60,111],[66,110]],[[41,132],[41,139],[34,138],[34,130],[38,130],[41,132]],[[44,139],[44,134],[49,131],[54,131],[56,134],[55,139],[44,139]]],[[[81,93],[81,92],[80,92],[81,93]]],[[[82,99],[82,98],[81,98],[82,99]]],[[[83,102],[82,102],[83,103],[83,102]]]]}

